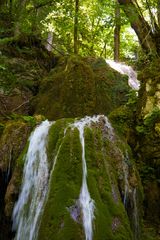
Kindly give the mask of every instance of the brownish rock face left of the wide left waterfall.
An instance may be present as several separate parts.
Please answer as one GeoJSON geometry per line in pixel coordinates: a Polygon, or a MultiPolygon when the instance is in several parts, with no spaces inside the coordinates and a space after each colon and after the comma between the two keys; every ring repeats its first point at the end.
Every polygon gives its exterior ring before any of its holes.
{"type": "Polygon", "coordinates": [[[11,215],[19,194],[23,172],[23,161],[22,159],[20,161],[20,155],[26,145],[30,131],[31,126],[26,122],[12,120],[4,125],[0,138],[1,239],[11,239],[11,215]]]}

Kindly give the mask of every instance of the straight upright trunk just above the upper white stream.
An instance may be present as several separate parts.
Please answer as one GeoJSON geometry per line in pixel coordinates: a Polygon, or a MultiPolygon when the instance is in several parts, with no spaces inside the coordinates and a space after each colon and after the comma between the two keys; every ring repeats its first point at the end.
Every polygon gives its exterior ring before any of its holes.
{"type": "Polygon", "coordinates": [[[115,29],[114,29],[114,61],[119,62],[120,57],[120,8],[116,0],[115,7],[115,29]]]}

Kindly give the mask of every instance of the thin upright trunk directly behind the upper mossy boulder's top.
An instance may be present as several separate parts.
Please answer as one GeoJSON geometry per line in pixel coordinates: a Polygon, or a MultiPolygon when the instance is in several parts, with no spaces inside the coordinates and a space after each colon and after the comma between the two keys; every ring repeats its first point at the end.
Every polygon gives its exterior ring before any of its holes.
{"type": "Polygon", "coordinates": [[[74,54],[78,54],[78,11],[79,11],[79,0],[75,0],[74,54]]]}

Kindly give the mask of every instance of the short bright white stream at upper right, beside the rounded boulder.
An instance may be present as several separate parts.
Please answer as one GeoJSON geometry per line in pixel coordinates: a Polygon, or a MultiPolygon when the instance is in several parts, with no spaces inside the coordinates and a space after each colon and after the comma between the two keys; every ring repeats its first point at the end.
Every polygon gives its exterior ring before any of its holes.
{"type": "Polygon", "coordinates": [[[115,69],[117,72],[126,74],[128,76],[128,85],[134,90],[139,90],[140,82],[137,79],[137,73],[133,70],[132,67],[127,66],[123,63],[114,62],[112,60],[106,60],[106,63],[108,63],[110,67],[115,69]]]}

